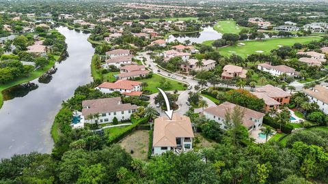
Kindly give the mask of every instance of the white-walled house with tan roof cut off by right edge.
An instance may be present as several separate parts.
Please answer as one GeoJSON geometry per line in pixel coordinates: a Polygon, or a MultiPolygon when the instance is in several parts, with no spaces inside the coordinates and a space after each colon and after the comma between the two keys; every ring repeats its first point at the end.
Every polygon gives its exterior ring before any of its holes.
{"type": "Polygon", "coordinates": [[[321,85],[316,85],[313,89],[303,89],[303,92],[310,98],[310,102],[318,104],[319,109],[328,114],[328,89],[321,85]]]}

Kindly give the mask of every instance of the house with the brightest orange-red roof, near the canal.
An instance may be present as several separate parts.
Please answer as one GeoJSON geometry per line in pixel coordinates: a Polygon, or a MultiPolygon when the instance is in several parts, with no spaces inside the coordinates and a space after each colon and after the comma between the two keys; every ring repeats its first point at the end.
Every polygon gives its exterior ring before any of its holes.
{"type": "Polygon", "coordinates": [[[118,80],[116,82],[103,82],[95,89],[99,89],[102,93],[113,93],[114,91],[119,91],[120,93],[128,96],[142,95],[141,82],[132,81],[132,80],[118,80]]]}

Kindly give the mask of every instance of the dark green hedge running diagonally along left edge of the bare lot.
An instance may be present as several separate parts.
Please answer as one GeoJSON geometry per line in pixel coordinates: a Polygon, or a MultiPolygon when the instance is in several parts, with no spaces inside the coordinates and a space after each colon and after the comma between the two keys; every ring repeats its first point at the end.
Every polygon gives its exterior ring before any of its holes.
{"type": "Polygon", "coordinates": [[[132,122],[132,125],[129,125],[128,127],[124,127],[124,131],[121,134],[115,135],[113,137],[111,137],[109,135],[109,140],[108,140],[107,143],[108,144],[114,144],[114,143],[120,141],[122,138],[124,138],[128,134],[131,134],[131,132],[133,132],[138,125],[141,125],[143,123],[147,123],[148,122],[148,117],[143,117],[141,119],[136,120],[131,115],[131,122],[132,122]]]}

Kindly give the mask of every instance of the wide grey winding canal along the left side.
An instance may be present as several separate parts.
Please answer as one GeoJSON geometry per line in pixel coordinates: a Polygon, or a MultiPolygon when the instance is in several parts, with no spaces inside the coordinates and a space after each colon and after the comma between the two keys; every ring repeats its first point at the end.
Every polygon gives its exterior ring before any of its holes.
{"type": "Polygon", "coordinates": [[[87,42],[89,35],[67,27],[57,30],[66,37],[66,59],[56,63],[57,70],[51,76],[6,94],[8,100],[0,109],[0,158],[31,151],[50,153],[51,125],[61,102],[71,97],[79,85],[92,81],[90,63],[94,48],[87,42]]]}

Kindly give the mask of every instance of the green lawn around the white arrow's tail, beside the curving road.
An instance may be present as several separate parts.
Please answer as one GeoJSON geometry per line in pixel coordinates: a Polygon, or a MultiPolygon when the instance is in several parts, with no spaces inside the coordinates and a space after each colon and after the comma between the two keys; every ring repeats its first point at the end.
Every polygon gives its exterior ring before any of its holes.
{"type": "MultiPolygon", "coordinates": [[[[143,89],[150,91],[150,93],[158,93],[159,91],[157,87],[162,87],[161,83],[159,83],[159,81],[161,81],[161,78],[164,77],[158,74],[152,74],[152,78],[144,78],[138,81],[147,82],[148,87],[143,87],[143,89]]],[[[183,86],[184,84],[182,82],[177,82],[176,80],[172,80],[169,78],[165,78],[165,80],[171,82],[172,86],[169,89],[163,89],[164,91],[174,91],[174,90],[184,91],[187,89],[186,87],[183,86]]]]}

